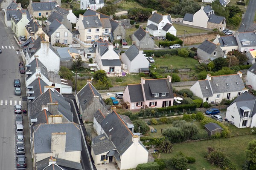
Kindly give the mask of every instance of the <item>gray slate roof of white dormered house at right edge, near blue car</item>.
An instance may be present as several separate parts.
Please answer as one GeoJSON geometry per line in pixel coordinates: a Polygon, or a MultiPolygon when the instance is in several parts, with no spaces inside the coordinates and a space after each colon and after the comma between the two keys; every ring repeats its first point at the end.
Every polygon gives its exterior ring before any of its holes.
{"type": "Polygon", "coordinates": [[[250,94],[247,91],[241,93],[230,105],[232,105],[233,103],[236,103],[240,118],[244,117],[244,111],[242,110],[242,107],[247,107],[251,110],[251,117],[256,114],[256,96],[250,94]]]}

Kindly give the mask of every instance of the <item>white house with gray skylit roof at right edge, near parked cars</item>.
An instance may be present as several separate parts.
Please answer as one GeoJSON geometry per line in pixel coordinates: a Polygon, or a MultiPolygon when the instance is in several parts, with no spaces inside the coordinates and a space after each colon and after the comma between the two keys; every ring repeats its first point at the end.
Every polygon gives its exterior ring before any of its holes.
{"type": "Polygon", "coordinates": [[[254,32],[235,32],[238,43],[238,51],[246,53],[256,49],[256,31],[254,32]]]}

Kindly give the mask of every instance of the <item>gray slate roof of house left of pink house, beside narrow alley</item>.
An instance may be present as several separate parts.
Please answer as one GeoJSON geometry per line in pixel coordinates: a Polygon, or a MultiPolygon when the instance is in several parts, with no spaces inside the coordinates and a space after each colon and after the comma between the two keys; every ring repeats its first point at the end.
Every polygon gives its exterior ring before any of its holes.
{"type": "Polygon", "coordinates": [[[102,105],[101,107],[106,108],[101,94],[94,88],[92,84],[88,83],[77,93],[79,104],[83,110],[93,103],[94,96],[99,96],[99,103],[102,105]]]}

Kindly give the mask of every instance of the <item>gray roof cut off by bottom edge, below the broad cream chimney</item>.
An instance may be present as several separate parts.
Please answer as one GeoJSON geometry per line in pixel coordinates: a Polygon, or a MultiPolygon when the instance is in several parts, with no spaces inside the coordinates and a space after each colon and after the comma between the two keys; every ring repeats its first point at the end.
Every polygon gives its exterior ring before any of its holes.
{"type": "Polygon", "coordinates": [[[36,162],[36,167],[38,170],[82,170],[83,169],[81,164],[78,162],[73,162],[73,161],[69,161],[61,158],[55,158],[52,156],[36,162]],[[56,159],[56,164],[58,166],[56,166],[55,164],[51,164],[49,166],[49,159],[51,158],[56,159]],[[59,167],[61,167],[61,169],[59,169],[59,167]]]}

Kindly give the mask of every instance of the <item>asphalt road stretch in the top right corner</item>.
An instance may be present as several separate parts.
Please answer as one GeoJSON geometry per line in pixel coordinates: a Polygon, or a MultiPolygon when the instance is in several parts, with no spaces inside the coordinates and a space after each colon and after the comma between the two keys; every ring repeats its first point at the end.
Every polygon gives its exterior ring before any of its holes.
{"type": "Polygon", "coordinates": [[[244,25],[241,24],[238,30],[239,32],[252,32],[254,29],[256,29],[256,26],[253,23],[255,11],[256,11],[256,0],[250,0],[244,15],[244,19],[241,22],[244,25]]]}

